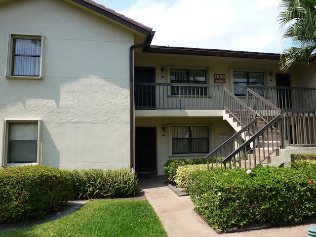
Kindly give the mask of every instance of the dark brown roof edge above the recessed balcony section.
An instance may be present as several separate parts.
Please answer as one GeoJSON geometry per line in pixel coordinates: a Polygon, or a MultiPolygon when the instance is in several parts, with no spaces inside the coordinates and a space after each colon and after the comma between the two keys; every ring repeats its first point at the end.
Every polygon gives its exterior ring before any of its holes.
{"type": "Polygon", "coordinates": [[[186,48],[186,47],[167,47],[167,46],[157,46],[157,45],[150,45],[144,50],[144,52],[213,56],[213,57],[280,60],[280,54],[278,53],[260,53],[260,52],[233,51],[233,50],[222,50],[222,49],[186,48]]]}

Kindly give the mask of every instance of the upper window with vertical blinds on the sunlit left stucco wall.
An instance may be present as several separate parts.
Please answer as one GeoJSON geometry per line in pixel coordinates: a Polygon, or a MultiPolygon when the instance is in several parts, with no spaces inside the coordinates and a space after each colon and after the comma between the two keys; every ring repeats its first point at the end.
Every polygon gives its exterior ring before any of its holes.
{"type": "Polygon", "coordinates": [[[40,78],[43,54],[42,36],[9,34],[7,77],[40,78]]]}

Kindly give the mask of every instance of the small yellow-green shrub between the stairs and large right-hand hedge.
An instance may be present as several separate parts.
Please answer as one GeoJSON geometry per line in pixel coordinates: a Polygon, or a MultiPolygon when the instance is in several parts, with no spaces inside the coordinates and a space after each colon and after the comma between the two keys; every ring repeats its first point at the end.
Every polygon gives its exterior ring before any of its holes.
{"type": "Polygon", "coordinates": [[[179,166],[177,173],[174,176],[174,182],[178,187],[188,189],[190,186],[190,175],[198,171],[206,171],[206,164],[187,164],[184,166],[179,166]]]}

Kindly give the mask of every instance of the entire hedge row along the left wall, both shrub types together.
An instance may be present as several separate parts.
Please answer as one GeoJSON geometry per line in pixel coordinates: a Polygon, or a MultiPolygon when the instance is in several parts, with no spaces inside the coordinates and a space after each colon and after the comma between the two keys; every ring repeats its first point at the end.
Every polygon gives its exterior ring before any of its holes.
{"type": "Polygon", "coordinates": [[[44,217],[68,200],[135,195],[136,174],[128,169],[61,170],[26,165],[0,169],[0,222],[44,217]]]}

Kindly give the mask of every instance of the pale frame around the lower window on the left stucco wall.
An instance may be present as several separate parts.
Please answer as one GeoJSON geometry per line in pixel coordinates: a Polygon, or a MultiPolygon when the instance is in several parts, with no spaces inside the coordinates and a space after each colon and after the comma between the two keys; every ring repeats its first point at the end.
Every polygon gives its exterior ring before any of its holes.
{"type": "Polygon", "coordinates": [[[2,166],[22,166],[27,164],[41,164],[41,119],[19,119],[6,118],[3,120],[3,136],[2,136],[2,166]],[[8,139],[9,139],[9,124],[10,123],[38,123],[38,141],[37,141],[37,161],[27,163],[9,163],[8,162],[8,139]]]}

